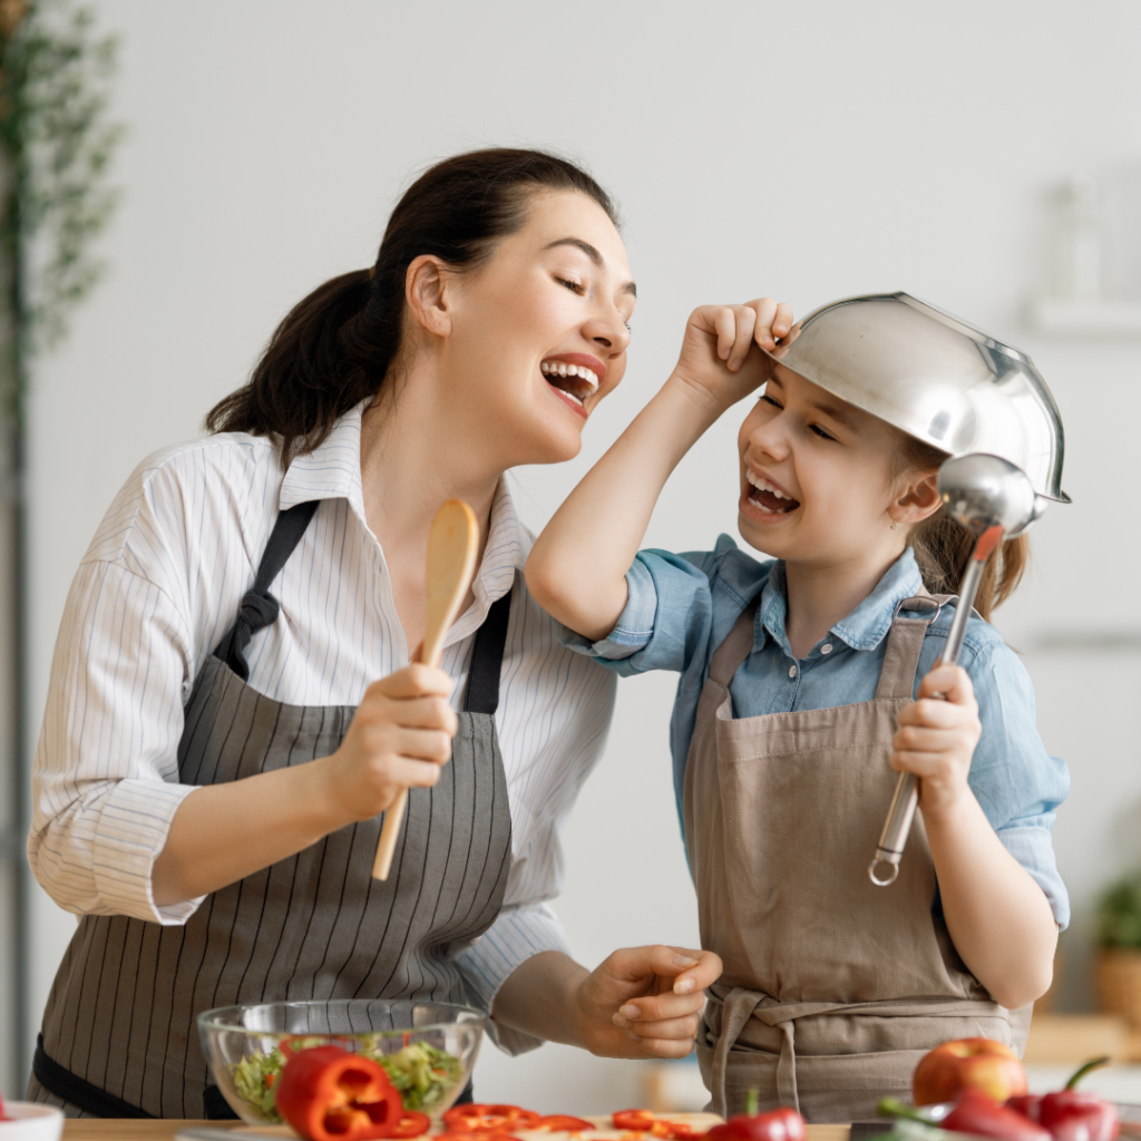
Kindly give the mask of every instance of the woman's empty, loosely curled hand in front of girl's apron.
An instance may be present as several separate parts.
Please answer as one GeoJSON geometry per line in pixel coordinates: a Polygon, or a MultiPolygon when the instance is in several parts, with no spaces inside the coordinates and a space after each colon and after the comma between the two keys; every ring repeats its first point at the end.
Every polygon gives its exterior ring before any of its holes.
{"type": "Polygon", "coordinates": [[[685,1058],[704,990],[721,976],[711,950],[628,947],[584,978],[575,995],[580,1037],[604,1058],[685,1058]]]}

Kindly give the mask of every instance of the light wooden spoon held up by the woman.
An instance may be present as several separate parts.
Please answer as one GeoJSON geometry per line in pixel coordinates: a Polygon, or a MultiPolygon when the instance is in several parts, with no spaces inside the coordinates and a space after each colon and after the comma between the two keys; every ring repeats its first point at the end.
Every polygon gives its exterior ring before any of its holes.
{"type": "MultiPolygon", "coordinates": [[[[436,512],[428,532],[428,565],[424,570],[424,640],[420,661],[439,665],[444,634],[455,621],[460,605],[471,585],[479,549],[479,524],[463,500],[448,500],[436,512]]],[[[372,864],[374,880],[387,880],[393,866],[396,840],[400,834],[408,790],[402,788],[385,815],[385,827],[372,864]]]]}

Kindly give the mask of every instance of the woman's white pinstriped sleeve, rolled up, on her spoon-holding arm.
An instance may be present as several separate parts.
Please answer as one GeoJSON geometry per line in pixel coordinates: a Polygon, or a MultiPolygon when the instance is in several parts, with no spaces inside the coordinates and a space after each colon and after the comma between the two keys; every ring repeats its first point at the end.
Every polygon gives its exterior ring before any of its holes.
{"type": "Polygon", "coordinates": [[[201,899],[159,907],[151,873],[193,785],[178,783],[183,621],[154,583],[83,563],[51,663],[33,769],[27,856],[63,908],[185,923],[201,899]]]}

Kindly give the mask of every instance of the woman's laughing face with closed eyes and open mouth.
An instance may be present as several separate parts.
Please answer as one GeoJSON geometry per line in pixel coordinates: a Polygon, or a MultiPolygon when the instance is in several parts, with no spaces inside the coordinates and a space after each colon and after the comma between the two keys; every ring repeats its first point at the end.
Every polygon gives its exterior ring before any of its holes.
{"type": "Polygon", "coordinates": [[[625,372],[634,308],[606,212],[585,194],[536,193],[523,228],[452,297],[437,367],[453,411],[480,426],[504,468],[577,455],[586,419],[625,372]]]}

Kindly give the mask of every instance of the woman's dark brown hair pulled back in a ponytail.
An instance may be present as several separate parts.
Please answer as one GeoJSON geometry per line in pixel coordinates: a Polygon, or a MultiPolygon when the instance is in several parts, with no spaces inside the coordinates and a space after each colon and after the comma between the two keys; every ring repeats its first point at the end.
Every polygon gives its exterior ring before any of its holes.
{"type": "Polygon", "coordinates": [[[249,383],[210,410],[207,430],[269,436],[283,468],[311,452],[339,416],[380,390],[400,349],[412,261],[428,253],[455,270],[480,268],[501,238],[523,228],[542,189],[586,194],[618,225],[606,191],[558,155],[496,147],[445,159],[397,203],[372,269],[341,274],[299,301],[249,383]]]}

